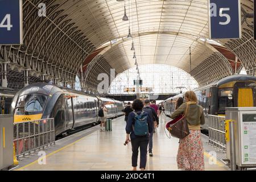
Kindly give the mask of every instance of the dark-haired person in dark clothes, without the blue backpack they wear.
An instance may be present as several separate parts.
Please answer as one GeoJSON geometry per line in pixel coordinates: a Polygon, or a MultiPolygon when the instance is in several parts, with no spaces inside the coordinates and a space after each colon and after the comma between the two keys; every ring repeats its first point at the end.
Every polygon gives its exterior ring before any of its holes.
{"type": "MultiPolygon", "coordinates": [[[[141,100],[134,100],[132,105],[134,112],[137,113],[137,115],[142,114],[142,108],[143,108],[143,102],[141,100]]],[[[127,124],[126,124],[126,140],[125,142],[131,141],[131,147],[133,151],[133,155],[131,156],[131,163],[133,166],[133,171],[137,171],[137,162],[138,162],[138,152],[140,151],[141,158],[140,158],[140,165],[139,168],[141,168],[142,171],[146,168],[146,162],[147,162],[147,145],[149,141],[149,134],[152,132],[152,121],[151,117],[143,112],[143,115],[145,115],[145,118],[147,119],[147,127],[148,127],[148,133],[146,135],[138,136],[134,133],[134,125],[135,125],[135,113],[131,112],[128,115],[127,124]],[[129,138],[130,135],[130,138],[129,138]]]]}

